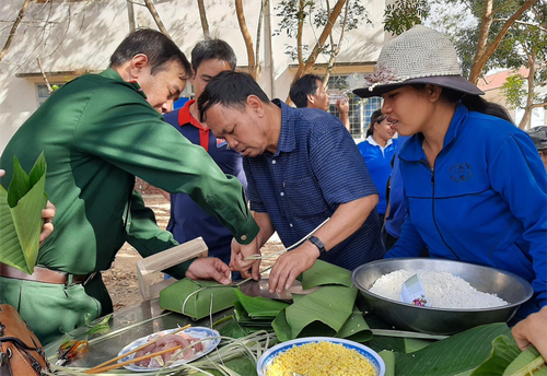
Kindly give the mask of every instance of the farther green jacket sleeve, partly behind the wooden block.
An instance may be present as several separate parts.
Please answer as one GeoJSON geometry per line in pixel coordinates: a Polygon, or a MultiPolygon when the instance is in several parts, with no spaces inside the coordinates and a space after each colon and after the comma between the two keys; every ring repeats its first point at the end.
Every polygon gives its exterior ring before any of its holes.
{"type": "MultiPolygon", "coordinates": [[[[142,257],[152,256],[178,245],[170,232],[158,227],[154,212],[144,205],[142,196],[136,190],[131,196],[127,236],[127,242],[138,249],[142,257]]],[[[183,279],[194,260],[195,258],[168,268],[165,272],[176,279],[183,279]]]]}

